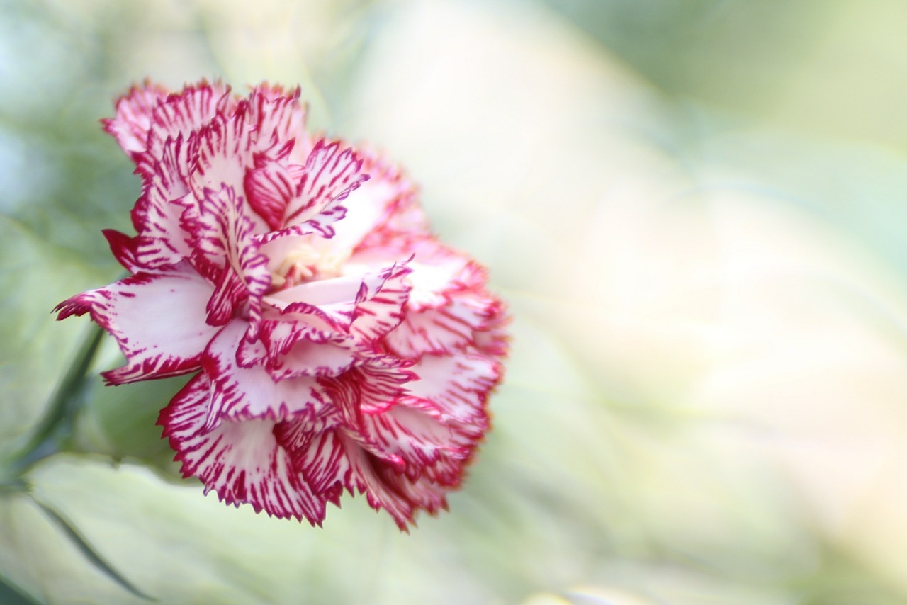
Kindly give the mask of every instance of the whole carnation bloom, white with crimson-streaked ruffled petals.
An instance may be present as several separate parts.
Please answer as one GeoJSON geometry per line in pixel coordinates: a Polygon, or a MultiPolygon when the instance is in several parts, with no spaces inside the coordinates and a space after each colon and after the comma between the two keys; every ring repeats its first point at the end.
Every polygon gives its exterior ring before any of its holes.
{"type": "Polygon", "coordinates": [[[206,493],[319,525],[365,493],[405,529],[489,428],[504,307],[401,171],[305,122],[298,89],[132,88],[104,122],[142,180],[137,235],[104,233],[132,275],[57,310],[116,338],[109,384],[195,374],[159,424],[206,493]]]}

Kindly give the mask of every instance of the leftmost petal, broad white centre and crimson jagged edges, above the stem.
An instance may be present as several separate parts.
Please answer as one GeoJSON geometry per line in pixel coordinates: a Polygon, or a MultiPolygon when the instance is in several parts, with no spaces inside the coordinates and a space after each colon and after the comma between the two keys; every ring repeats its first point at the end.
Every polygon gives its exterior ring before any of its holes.
{"type": "Polygon", "coordinates": [[[205,322],[204,301],[210,294],[210,284],[182,265],[83,292],[56,310],[58,319],[91,313],[116,338],[128,363],[103,376],[122,385],[199,368],[201,352],[216,332],[205,322]]]}

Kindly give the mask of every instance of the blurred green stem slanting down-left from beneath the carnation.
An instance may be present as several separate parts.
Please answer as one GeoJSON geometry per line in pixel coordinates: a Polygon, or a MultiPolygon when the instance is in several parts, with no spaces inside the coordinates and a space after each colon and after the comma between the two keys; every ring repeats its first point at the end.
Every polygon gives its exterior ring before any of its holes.
{"type": "Polygon", "coordinates": [[[101,346],[103,335],[100,326],[91,325],[63,380],[54,391],[44,416],[24,446],[7,459],[9,464],[5,464],[6,470],[12,472],[8,473],[11,476],[4,477],[5,483],[17,480],[29,466],[58,451],[61,438],[68,434],[65,429],[71,427],[73,416],[82,404],[85,375],[101,346]]]}

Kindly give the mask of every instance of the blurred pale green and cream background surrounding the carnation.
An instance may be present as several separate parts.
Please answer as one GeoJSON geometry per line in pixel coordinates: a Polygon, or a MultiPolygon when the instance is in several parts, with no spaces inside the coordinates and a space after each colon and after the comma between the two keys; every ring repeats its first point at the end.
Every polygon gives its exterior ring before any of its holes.
{"type": "MultiPolygon", "coordinates": [[[[495,428],[410,535],[181,482],[180,381],[88,380],[0,492],[3,602],[907,602],[902,0],[0,0],[0,452],[118,278],[132,82],[299,83],[510,301],[495,428]],[[86,547],[90,545],[90,551],[86,547]]],[[[94,374],[119,364],[105,342],[94,374]]]]}

